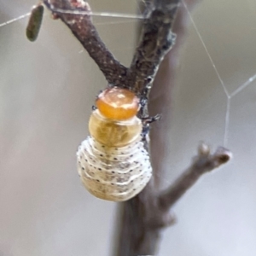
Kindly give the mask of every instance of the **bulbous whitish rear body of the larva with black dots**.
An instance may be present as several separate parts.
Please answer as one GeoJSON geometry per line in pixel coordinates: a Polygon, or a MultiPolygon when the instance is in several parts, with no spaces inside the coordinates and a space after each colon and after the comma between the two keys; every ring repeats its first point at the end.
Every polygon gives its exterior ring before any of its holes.
{"type": "Polygon", "coordinates": [[[107,147],[87,137],[79,147],[79,176],[92,195],[108,201],[127,201],[143,190],[152,168],[140,141],[107,147]]]}

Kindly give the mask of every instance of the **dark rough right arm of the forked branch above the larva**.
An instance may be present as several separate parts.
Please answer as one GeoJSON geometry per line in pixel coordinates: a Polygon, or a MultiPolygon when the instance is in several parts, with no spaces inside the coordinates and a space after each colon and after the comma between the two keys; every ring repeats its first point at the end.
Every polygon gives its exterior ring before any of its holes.
{"type": "Polygon", "coordinates": [[[148,93],[160,62],[175,44],[176,35],[172,33],[172,25],[179,3],[180,0],[171,0],[169,4],[164,5],[162,1],[154,1],[154,5],[150,6],[152,9],[147,11],[142,37],[128,75],[131,84],[134,84],[134,90],[140,95],[148,93]]]}

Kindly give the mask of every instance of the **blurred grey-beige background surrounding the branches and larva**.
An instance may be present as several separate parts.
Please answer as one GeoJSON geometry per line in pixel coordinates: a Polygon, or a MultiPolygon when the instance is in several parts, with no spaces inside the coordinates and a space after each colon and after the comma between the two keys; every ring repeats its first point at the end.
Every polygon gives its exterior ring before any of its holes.
{"type": "MultiPolygon", "coordinates": [[[[89,3],[96,12],[139,13],[137,1],[89,3]]],[[[33,4],[0,0],[0,24],[33,4]]],[[[163,232],[159,255],[254,256],[256,2],[204,0],[192,18],[172,109],[161,120],[170,127],[163,186],[189,166],[200,141],[213,149],[225,144],[234,159],[177,203],[177,224],[163,232]]],[[[0,25],[0,255],[111,255],[116,204],[84,189],[75,157],[107,83],[60,20],[45,11],[35,43],[26,39],[27,20],[0,25]]],[[[129,66],[137,20],[95,17],[94,23],[129,66]]]]}

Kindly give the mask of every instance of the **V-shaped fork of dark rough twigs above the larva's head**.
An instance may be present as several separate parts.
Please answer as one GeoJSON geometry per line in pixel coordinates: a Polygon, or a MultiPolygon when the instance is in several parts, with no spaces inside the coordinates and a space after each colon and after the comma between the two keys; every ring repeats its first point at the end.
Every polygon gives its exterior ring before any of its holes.
{"type": "Polygon", "coordinates": [[[96,61],[110,85],[130,88],[144,97],[148,94],[160,61],[175,42],[171,28],[180,0],[169,1],[169,4],[163,4],[162,0],[154,2],[154,5],[148,4],[147,16],[143,21],[143,36],[128,69],[114,59],[102,42],[91,22],[88,3],[79,0],[44,0],[48,9],[71,29],[96,61]]]}

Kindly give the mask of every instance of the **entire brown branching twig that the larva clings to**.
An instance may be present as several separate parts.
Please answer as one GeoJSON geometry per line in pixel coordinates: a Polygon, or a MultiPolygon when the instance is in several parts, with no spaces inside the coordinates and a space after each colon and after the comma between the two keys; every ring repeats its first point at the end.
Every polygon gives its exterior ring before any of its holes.
{"type": "MultiPolygon", "coordinates": [[[[177,51],[183,42],[187,13],[179,9],[181,0],[152,0],[147,2],[145,20],[137,50],[131,67],[124,67],[115,60],[96,32],[90,20],[90,6],[81,0],[44,0],[55,18],[60,18],[78,38],[108,80],[109,86],[129,88],[141,98],[144,131],[149,126],[148,95],[151,91],[152,106],[150,112],[165,113],[171,109],[171,95],[174,73],[177,66],[177,51]],[[175,18],[177,18],[175,20],[175,18]],[[174,24],[175,20],[175,24],[174,24]],[[177,44],[172,48],[177,33],[177,44]],[[160,62],[166,55],[161,67],[160,62]],[[154,81],[156,72],[159,73],[154,81]],[[160,96],[160,91],[164,92],[160,96]],[[146,120],[146,121],[145,121],[146,120]]],[[[191,9],[197,0],[186,0],[191,9]]],[[[168,189],[160,191],[160,177],[163,166],[159,158],[160,148],[165,148],[166,132],[163,127],[152,129],[151,155],[153,178],[143,192],[121,205],[121,218],[116,256],[154,255],[157,253],[161,231],[173,223],[170,209],[173,204],[206,172],[230,160],[230,151],[218,148],[210,154],[206,145],[201,145],[198,154],[187,171],[183,172],[168,189]]],[[[148,144],[145,143],[148,147],[148,144]]]]}

